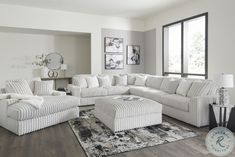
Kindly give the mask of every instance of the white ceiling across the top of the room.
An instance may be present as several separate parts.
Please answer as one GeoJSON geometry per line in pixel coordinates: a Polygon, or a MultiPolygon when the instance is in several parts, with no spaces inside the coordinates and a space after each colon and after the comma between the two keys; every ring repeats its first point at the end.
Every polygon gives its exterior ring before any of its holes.
{"type": "Polygon", "coordinates": [[[188,1],[195,0],[0,0],[0,3],[107,16],[146,18],[188,1]]]}

